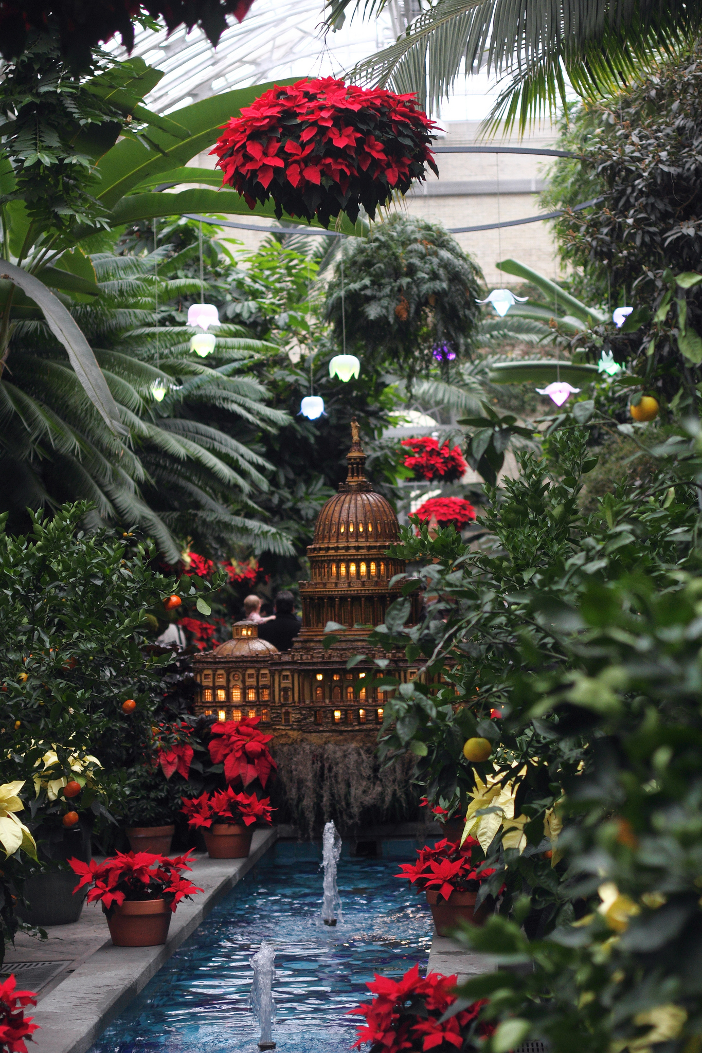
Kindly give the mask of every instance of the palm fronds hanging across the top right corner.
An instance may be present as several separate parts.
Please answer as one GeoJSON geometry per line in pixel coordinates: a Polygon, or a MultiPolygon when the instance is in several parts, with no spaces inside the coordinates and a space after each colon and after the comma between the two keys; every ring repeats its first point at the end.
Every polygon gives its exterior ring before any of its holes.
{"type": "MultiPolygon", "coordinates": [[[[370,16],[384,0],[329,0],[327,24],[352,7],[370,16]]],[[[405,20],[395,44],[360,62],[352,76],[416,92],[436,108],[461,73],[500,76],[488,120],[524,130],[565,106],[566,84],[584,97],[617,91],[655,71],[661,55],[683,51],[700,29],[700,11],[682,0],[541,0],[526,9],[509,0],[438,0],[405,20]]]]}

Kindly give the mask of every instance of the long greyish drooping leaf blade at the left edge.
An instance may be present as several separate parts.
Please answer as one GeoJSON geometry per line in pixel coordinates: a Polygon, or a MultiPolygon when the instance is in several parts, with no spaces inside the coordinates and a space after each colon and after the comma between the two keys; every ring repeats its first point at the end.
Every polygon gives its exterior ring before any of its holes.
{"type": "Polygon", "coordinates": [[[120,420],[119,411],[93,350],[61,301],[42,281],[14,263],[2,260],[0,271],[0,278],[9,278],[41,307],[52,333],[65,347],[85,394],[111,432],[126,435],[126,429],[120,420]]]}

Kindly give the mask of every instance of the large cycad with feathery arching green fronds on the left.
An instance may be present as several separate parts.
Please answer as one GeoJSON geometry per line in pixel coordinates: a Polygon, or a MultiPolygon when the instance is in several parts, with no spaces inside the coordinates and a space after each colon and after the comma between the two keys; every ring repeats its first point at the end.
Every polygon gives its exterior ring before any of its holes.
{"type": "Polygon", "coordinates": [[[0,380],[0,499],[19,525],[27,505],[86,498],[95,524],[138,523],[172,561],[175,535],[185,534],[215,547],[236,538],[286,553],[279,532],[249,518],[269,465],[217,426],[222,417],[229,433],[237,420],[247,431],[286,422],[265,405],[265,389],[248,369],[270,345],[222,325],[215,360],[205,363],[190,352],[194,330],[160,327],[158,303],[200,291],[197,280],[173,277],[193,247],[169,259],[167,252],[93,255],[100,296],[73,307],[128,440],[105,426],[45,321],[16,322],[0,380]]]}

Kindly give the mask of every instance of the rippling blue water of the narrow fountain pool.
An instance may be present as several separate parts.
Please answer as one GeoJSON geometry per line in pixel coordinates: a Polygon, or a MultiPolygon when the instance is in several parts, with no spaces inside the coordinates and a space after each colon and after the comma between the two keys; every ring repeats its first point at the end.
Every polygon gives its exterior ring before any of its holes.
{"type": "MultiPolygon", "coordinates": [[[[414,858],[406,848],[400,858],[414,858]]],[[[276,846],[89,1053],[258,1053],[248,962],[262,939],[276,949],[278,1050],[347,1053],[356,1031],[345,1014],[368,995],[365,981],[426,966],[432,918],[397,871],[398,859],[342,857],[343,919],[330,928],[320,917],[319,861],[276,846]]]]}

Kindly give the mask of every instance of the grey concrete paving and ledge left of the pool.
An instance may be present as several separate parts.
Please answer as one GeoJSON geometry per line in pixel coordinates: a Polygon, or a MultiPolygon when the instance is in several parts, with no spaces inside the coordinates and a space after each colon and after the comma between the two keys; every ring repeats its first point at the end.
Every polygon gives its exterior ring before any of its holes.
{"type": "Polygon", "coordinates": [[[3,972],[15,971],[19,987],[31,987],[31,962],[45,963],[49,973],[52,968],[56,971],[32,1013],[41,1028],[34,1034],[33,1050],[85,1053],[277,837],[275,827],[255,831],[246,859],[196,857],[188,876],[204,892],[179,905],[163,947],[114,947],[99,903],[86,905],[75,925],[49,927],[47,940],[18,936],[3,972]]]}

